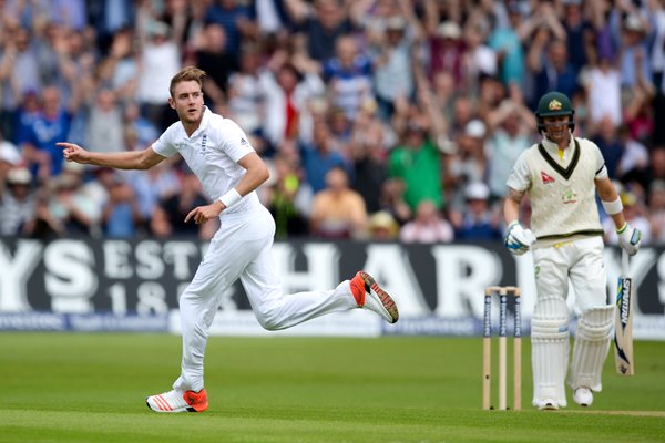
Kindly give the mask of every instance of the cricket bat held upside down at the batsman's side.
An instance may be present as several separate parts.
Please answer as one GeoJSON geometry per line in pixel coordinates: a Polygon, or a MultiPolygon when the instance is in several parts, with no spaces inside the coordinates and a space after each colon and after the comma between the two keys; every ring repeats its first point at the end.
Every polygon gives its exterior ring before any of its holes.
{"type": "Polygon", "coordinates": [[[614,363],[622,375],[635,374],[633,360],[633,279],[628,276],[628,253],[622,250],[614,317],[614,363]]]}

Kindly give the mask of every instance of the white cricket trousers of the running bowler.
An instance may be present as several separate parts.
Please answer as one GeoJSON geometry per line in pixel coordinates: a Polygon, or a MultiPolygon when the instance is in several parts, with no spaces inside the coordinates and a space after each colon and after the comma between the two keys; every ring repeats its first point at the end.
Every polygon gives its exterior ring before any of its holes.
{"type": "Polygon", "coordinates": [[[345,280],[332,290],[283,295],[270,248],[275,222],[265,208],[248,214],[225,214],[196,275],[180,298],[183,336],[182,372],[173,384],[178,391],[200,391],[208,329],[221,295],[238,278],[256,319],[268,330],[286,329],[329,312],[357,308],[345,280]]]}

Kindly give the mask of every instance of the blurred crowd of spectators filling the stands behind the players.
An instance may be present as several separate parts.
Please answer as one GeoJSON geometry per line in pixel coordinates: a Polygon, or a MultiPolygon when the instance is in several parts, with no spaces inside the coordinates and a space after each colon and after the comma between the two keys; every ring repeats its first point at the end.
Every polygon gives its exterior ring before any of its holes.
{"type": "Polygon", "coordinates": [[[119,172],[55,146],[149,146],[177,120],[171,78],[196,65],[206,105],[270,167],[278,238],[499,241],[508,174],[540,140],[532,110],[557,90],[643,243],[665,244],[664,0],[3,0],[0,14],[2,236],[211,238],[183,223],[206,197],[178,156],[119,172]]]}

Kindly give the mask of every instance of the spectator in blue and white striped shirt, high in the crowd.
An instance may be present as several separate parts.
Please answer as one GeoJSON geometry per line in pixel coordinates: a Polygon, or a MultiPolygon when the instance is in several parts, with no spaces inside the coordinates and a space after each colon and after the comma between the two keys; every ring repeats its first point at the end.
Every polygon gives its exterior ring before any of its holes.
{"type": "Polygon", "coordinates": [[[348,119],[355,119],[360,106],[374,101],[371,62],[359,52],[354,37],[337,39],[335,58],[325,62],[323,74],[331,104],[348,119]]]}

